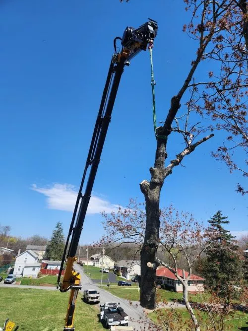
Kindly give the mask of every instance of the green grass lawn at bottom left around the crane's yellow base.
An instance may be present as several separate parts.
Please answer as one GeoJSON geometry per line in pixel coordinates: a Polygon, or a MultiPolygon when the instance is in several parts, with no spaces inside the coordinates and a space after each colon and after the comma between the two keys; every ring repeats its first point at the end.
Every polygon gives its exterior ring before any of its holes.
{"type": "MultiPolygon", "coordinates": [[[[56,290],[1,288],[0,327],[9,318],[21,331],[61,331],[68,297],[68,292],[56,290]]],[[[84,303],[79,295],[74,322],[76,330],[104,330],[98,314],[98,307],[84,303]]]]}

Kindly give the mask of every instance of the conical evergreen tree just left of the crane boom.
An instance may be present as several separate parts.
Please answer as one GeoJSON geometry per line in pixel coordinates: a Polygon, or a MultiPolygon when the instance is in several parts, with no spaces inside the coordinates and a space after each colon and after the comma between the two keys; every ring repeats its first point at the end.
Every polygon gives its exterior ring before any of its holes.
{"type": "Polygon", "coordinates": [[[61,261],[64,250],[64,236],[62,223],[58,222],[56,224],[55,230],[50,243],[46,249],[46,259],[53,261],[61,261]]]}

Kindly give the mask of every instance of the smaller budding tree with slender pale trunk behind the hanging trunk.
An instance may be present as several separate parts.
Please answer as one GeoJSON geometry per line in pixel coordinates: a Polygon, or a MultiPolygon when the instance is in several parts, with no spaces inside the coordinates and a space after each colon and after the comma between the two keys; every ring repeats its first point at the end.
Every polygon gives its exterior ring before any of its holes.
{"type": "MultiPolygon", "coordinates": [[[[111,215],[103,213],[105,218],[104,229],[106,235],[102,238],[105,244],[113,245],[113,242],[134,242],[142,250],[145,240],[146,215],[142,205],[131,200],[127,208],[119,209],[111,215]]],[[[186,308],[190,314],[196,331],[199,331],[198,321],[188,301],[188,282],[192,277],[192,266],[201,256],[202,252],[209,248],[210,242],[202,224],[196,222],[192,215],[179,213],[172,206],[163,209],[160,215],[161,226],[159,230],[159,244],[164,252],[167,252],[172,264],[166,264],[156,258],[156,262],[148,262],[148,270],[156,272],[158,265],[165,265],[171,270],[183,285],[183,293],[186,308]],[[187,276],[180,274],[179,260],[186,262],[187,276]]],[[[142,279],[142,273],[141,273],[142,279]]],[[[141,285],[141,281],[140,281],[141,285]]],[[[202,287],[199,287],[199,291],[202,287]]]]}

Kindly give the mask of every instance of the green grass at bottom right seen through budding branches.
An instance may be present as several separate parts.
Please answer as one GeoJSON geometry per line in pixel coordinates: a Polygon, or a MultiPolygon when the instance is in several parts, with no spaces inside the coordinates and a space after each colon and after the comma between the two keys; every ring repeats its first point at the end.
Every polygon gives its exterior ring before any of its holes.
{"type": "MultiPolygon", "coordinates": [[[[161,321],[166,320],[166,316],[168,313],[169,314],[171,313],[170,309],[163,309],[163,310],[161,309],[158,313],[153,312],[148,314],[148,316],[155,324],[160,325],[161,321]]],[[[180,330],[182,331],[194,330],[186,308],[175,309],[175,313],[176,315],[174,316],[174,318],[177,321],[178,326],[180,326],[180,330]]],[[[207,314],[196,310],[194,310],[194,313],[198,317],[197,320],[200,323],[201,331],[208,330],[211,324],[207,314]]],[[[230,316],[225,317],[225,320],[226,320],[226,327],[228,328],[225,330],[231,330],[231,331],[248,330],[248,314],[235,312],[230,316]]]]}

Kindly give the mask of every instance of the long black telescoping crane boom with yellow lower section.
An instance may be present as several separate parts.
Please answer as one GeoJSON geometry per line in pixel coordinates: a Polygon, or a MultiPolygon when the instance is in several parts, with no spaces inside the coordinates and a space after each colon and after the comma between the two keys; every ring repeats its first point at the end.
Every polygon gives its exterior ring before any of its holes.
{"type": "Polygon", "coordinates": [[[79,188],[78,196],[72,220],[65,243],[65,248],[62,257],[62,264],[58,276],[58,288],[61,292],[70,290],[68,308],[65,318],[64,331],[74,331],[74,311],[78,291],[81,289],[80,275],[73,268],[76,261],[76,250],[78,247],[83,223],[89,204],[91,191],[95,181],[97,168],[100,162],[100,157],[108,131],[111,114],[114,107],[119,83],[124,71],[124,66],[129,66],[129,61],[136,56],[141,50],[145,51],[147,46],[152,47],[154,38],[157,35],[158,25],[157,22],[150,19],[149,21],[134,29],[127,27],[124,31],[123,38],[117,37],[114,39],[115,54],[113,55],[109,67],[109,72],[105,87],[103,90],[102,100],[92,135],[88,157],[86,160],[81,185],[79,188]],[[122,50],[117,52],[116,41],[121,40],[122,50]],[[87,170],[90,167],[90,172],[87,178],[87,185],[83,192],[83,185],[87,175],[87,170]],[[76,222],[75,222],[76,220],[76,222]],[[75,223],[75,226],[74,226],[75,223]],[[71,240],[70,240],[71,237],[71,240]],[[70,245],[67,250],[70,240],[70,245]],[[66,268],[61,282],[61,275],[63,264],[66,258],[66,268]]]}

